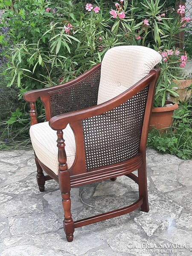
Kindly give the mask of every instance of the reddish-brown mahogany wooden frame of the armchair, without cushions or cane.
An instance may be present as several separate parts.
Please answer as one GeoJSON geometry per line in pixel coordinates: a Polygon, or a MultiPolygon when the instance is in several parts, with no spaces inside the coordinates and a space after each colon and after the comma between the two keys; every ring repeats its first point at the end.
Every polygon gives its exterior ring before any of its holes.
{"type": "MultiPolygon", "coordinates": [[[[35,101],[38,97],[45,106],[46,120],[49,121],[49,125],[52,129],[57,131],[57,146],[58,146],[58,175],[49,169],[49,166],[45,166],[41,163],[37,157],[35,157],[35,162],[38,169],[38,185],[41,188],[40,191],[44,191],[45,180],[54,179],[59,183],[62,197],[62,204],[64,208],[64,231],[66,233],[67,241],[73,241],[73,232],[77,227],[81,227],[87,224],[92,224],[97,221],[103,221],[108,218],[113,218],[119,215],[131,212],[139,207],[145,212],[148,212],[148,195],[147,195],[147,177],[146,177],[146,160],[145,151],[148,136],[149,119],[151,115],[152,102],[154,98],[154,89],[157,82],[157,78],[160,73],[160,69],[153,69],[151,72],[145,76],[142,80],[134,84],[131,88],[121,93],[119,96],[104,102],[100,105],[93,105],[89,108],[84,108],[78,111],[73,111],[70,113],[60,114],[58,116],[50,115],[50,102],[48,93],[55,92],[58,90],[68,88],[78,84],[87,76],[99,70],[101,64],[96,65],[91,70],[87,71],[82,76],[74,79],[66,84],[61,84],[55,87],[35,90],[27,92],[24,94],[24,99],[30,102],[30,116],[31,125],[37,123],[36,112],[35,112],[35,101]],[[93,116],[100,115],[107,111],[111,111],[114,108],[122,105],[127,100],[131,99],[145,87],[148,87],[147,100],[145,104],[145,111],[143,116],[143,126],[140,137],[139,151],[134,157],[129,160],[125,160],[121,163],[112,163],[108,166],[102,166],[99,168],[88,170],[86,169],[85,151],[84,151],[84,137],[82,131],[82,120],[93,116]],[[66,128],[67,124],[73,130],[75,140],[76,140],[76,157],[70,169],[67,168],[67,157],[65,152],[65,143],[63,138],[63,129],[66,128]],[[46,176],[43,175],[42,169],[47,173],[46,176]],[[138,177],[132,172],[138,169],[138,177]],[[122,209],[116,209],[111,212],[106,212],[90,218],[85,218],[78,221],[73,221],[71,214],[71,200],[70,200],[70,189],[73,187],[81,186],[84,184],[89,184],[93,182],[98,182],[101,180],[111,179],[116,180],[116,177],[125,175],[132,180],[134,180],[139,185],[139,199],[128,207],[122,209]]],[[[93,81],[92,81],[93,82],[93,81]]],[[[75,88],[75,87],[74,87],[75,88]]],[[[78,89],[79,90],[79,89],[78,89]]],[[[56,143],[56,142],[55,142],[56,143]]],[[[114,151],[114,154],[116,152],[114,151]]]]}

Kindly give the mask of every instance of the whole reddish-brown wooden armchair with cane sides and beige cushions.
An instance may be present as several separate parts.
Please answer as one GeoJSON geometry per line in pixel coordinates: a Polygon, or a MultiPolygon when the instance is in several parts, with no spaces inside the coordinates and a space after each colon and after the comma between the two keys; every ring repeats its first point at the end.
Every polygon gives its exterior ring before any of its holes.
{"type": "MultiPolygon", "coordinates": [[[[161,55],[141,46],[108,50],[97,64],[72,81],[24,94],[30,103],[30,137],[37,181],[59,183],[64,231],[131,212],[148,212],[146,142],[161,55]],[[154,69],[153,69],[154,68],[154,69]],[[35,101],[41,98],[46,122],[38,123],[35,101]],[[138,169],[138,177],[132,172],[138,169]],[[43,170],[47,173],[44,175],[43,170]],[[125,175],[139,185],[139,198],[128,207],[73,221],[70,189],[125,175]]],[[[113,186],[113,184],[111,184],[113,186]]]]}

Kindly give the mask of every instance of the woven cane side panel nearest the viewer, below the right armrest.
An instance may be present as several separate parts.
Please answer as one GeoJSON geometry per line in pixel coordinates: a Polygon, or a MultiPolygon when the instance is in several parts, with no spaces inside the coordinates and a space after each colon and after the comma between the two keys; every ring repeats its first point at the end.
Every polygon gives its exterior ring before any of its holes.
{"type": "Polygon", "coordinates": [[[87,171],[121,163],[139,150],[148,87],[110,111],[82,120],[87,171]]]}

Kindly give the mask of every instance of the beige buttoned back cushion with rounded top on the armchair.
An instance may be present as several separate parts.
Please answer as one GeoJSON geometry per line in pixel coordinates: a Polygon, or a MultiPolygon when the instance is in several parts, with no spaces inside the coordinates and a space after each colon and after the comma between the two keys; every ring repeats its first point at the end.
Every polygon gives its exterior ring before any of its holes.
{"type": "Polygon", "coordinates": [[[118,46],[103,58],[97,104],[106,102],[145,77],[161,61],[155,50],[143,46],[118,46]]]}

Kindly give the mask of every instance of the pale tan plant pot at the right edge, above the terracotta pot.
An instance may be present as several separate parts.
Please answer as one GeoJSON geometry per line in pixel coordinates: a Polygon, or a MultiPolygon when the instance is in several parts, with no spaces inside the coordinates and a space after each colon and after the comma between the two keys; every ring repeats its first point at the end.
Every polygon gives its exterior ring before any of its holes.
{"type": "Polygon", "coordinates": [[[179,97],[170,96],[172,102],[186,102],[192,97],[192,79],[188,80],[173,80],[178,87],[177,93],[179,97]]]}

